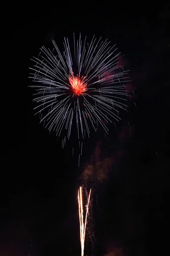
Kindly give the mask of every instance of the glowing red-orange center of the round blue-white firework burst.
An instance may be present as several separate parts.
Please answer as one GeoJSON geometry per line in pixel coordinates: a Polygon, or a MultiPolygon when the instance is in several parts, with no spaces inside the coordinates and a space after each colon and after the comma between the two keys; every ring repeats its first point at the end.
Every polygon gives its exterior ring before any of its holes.
{"type": "Polygon", "coordinates": [[[80,95],[87,90],[86,84],[83,81],[84,79],[79,79],[77,76],[69,77],[69,82],[75,94],[80,95]]]}

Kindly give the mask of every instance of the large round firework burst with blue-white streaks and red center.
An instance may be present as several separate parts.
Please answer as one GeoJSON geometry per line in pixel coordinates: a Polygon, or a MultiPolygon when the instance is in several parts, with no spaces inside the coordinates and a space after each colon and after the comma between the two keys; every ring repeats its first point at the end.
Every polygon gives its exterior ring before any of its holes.
{"type": "Polygon", "coordinates": [[[42,47],[30,68],[40,122],[63,137],[62,147],[73,130],[79,140],[90,137],[98,125],[108,134],[107,123],[119,121],[119,110],[127,106],[127,71],[119,65],[116,45],[95,37],[88,43],[81,34],[73,39],[69,44],[64,38],[63,54],[54,41],[53,49],[42,47]]]}

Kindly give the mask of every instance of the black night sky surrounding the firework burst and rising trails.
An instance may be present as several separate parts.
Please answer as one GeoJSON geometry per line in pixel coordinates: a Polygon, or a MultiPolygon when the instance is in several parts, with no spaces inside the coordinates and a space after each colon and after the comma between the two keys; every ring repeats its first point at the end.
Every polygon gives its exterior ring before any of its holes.
{"type": "MultiPolygon", "coordinates": [[[[112,172],[94,185],[91,228],[95,241],[87,245],[87,253],[103,256],[118,243],[127,256],[163,254],[168,241],[163,193],[167,201],[170,166],[167,5],[102,3],[78,10],[68,4],[45,3],[9,16],[3,28],[7,58],[2,48],[7,73],[1,84],[5,87],[1,111],[6,132],[2,134],[0,256],[80,255],[76,193],[78,177],[89,162],[88,149],[78,169],[70,152],[62,151],[57,137],[49,135],[34,116],[28,88],[30,58],[39,54],[42,45],[52,39],[61,44],[73,32],[117,43],[130,68],[137,106],[129,102],[118,140],[112,140],[112,172]],[[127,121],[132,138],[125,136],[120,144],[127,121]]],[[[92,153],[97,142],[91,143],[92,153]]],[[[107,157],[105,147],[102,154],[107,157]]]]}

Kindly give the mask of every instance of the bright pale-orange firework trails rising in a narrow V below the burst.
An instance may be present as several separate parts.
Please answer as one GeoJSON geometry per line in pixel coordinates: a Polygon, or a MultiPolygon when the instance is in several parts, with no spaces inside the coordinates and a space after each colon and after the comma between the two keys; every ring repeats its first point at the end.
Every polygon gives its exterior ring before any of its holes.
{"type": "Polygon", "coordinates": [[[80,241],[81,241],[81,248],[82,248],[82,254],[81,256],[84,256],[84,248],[85,248],[85,228],[87,223],[87,216],[88,216],[88,205],[90,201],[90,195],[91,190],[88,196],[88,204],[86,208],[86,215],[85,215],[85,224],[83,221],[83,203],[82,203],[82,187],[78,190],[78,201],[79,201],[79,222],[80,222],[80,241]]]}

